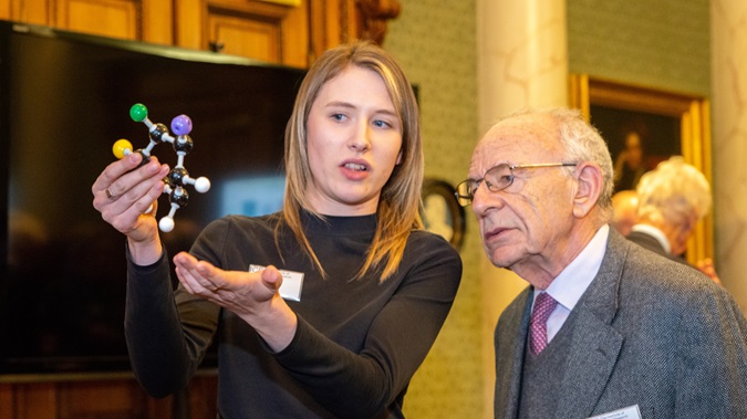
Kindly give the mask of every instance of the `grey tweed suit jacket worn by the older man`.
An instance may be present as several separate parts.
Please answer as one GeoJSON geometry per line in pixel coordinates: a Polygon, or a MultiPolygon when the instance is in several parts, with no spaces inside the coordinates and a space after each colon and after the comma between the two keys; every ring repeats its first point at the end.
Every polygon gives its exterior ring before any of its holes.
{"type": "MultiPolygon", "coordinates": [[[[496,327],[496,418],[518,417],[532,291],[496,327]]],[[[747,418],[747,321],[698,271],[610,229],[600,271],[574,312],[561,390],[547,395],[557,398],[554,418],[636,405],[644,419],[747,418]]]]}

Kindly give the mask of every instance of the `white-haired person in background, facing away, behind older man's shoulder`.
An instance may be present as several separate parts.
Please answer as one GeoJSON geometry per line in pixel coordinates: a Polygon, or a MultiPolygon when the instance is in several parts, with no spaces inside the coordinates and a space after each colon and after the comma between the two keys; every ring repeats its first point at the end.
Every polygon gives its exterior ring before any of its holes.
{"type": "MultiPolygon", "coordinates": [[[[712,205],[706,177],[681,156],[673,156],[643,175],[636,192],[639,220],[627,239],[686,263],[683,254],[687,250],[687,240],[712,205]]],[[[720,284],[712,260],[701,261],[696,268],[720,284]]]]}

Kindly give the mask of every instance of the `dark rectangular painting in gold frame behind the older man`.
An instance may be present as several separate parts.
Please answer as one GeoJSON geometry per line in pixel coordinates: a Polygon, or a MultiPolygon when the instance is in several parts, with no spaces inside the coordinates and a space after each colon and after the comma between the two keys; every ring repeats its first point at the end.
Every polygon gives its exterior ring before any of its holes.
{"type": "MultiPolygon", "coordinates": [[[[641,175],[683,156],[712,182],[708,101],[701,96],[572,74],[570,106],[581,109],[608,142],[615,191],[635,189],[641,175]]],[[[713,211],[712,211],[713,213],[713,211]]],[[[713,256],[713,216],[698,222],[687,261],[713,256]]]]}

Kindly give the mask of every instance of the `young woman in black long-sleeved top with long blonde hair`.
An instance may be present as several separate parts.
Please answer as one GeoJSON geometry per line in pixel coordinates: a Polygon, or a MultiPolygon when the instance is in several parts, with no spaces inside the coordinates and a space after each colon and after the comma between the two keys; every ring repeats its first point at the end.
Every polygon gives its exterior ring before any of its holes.
{"type": "Polygon", "coordinates": [[[454,301],[461,262],[422,230],[409,82],[370,43],[325,52],[286,132],[280,212],[210,223],[169,263],[155,211],[168,172],[129,155],[93,185],[127,237],[126,337],[154,396],[183,388],[218,339],[219,416],[401,418],[454,301]]]}

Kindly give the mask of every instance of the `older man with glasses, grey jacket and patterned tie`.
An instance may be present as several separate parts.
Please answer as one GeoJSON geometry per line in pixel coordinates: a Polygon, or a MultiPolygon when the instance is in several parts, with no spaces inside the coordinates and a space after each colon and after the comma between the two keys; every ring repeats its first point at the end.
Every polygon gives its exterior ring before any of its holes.
{"type": "Polygon", "coordinates": [[[611,229],[612,189],[574,111],[510,115],[477,145],[457,193],[492,263],[530,284],[496,327],[495,417],[747,418],[744,314],[611,229]]]}

